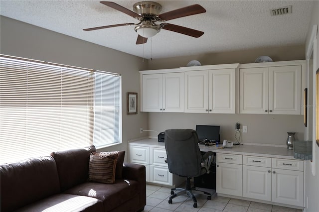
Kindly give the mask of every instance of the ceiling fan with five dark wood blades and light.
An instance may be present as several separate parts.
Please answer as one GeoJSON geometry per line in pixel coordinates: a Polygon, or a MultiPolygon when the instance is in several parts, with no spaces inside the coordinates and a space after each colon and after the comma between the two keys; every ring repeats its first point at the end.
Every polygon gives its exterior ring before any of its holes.
{"type": "Polygon", "coordinates": [[[161,5],[154,1],[140,1],[133,5],[133,10],[127,9],[115,2],[112,1],[100,1],[101,3],[110,6],[114,9],[117,9],[121,12],[124,12],[127,15],[130,15],[140,22],[138,23],[121,23],[107,26],[99,26],[93,28],[83,29],[84,31],[91,31],[96,29],[105,29],[117,26],[127,26],[127,25],[136,25],[135,31],[139,34],[136,44],[143,44],[148,41],[149,37],[153,37],[160,29],[166,29],[173,32],[178,32],[184,35],[192,37],[200,37],[204,34],[202,31],[195,29],[187,28],[184,26],[179,26],[171,23],[160,23],[157,24],[157,21],[167,21],[179,17],[185,17],[188,15],[194,15],[206,12],[206,10],[199,4],[193,4],[190,6],[182,7],[179,9],[171,10],[165,13],[160,14],[161,5]]]}

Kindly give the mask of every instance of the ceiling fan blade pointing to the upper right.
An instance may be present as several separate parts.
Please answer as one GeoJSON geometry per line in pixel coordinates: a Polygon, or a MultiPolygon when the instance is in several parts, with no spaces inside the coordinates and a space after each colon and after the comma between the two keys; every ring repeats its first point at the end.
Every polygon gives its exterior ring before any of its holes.
{"type": "Polygon", "coordinates": [[[199,4],[193,4],[190,6],[182,7],[179,9],[175,9],[169,12],[165,12],[162,14],[159,14],[159,18],[161,21],[166,21],[166,20],[171,20],[179,17],[185,17],[188,15],[194,15],[194,14],[199,14],[206,12],[206,9],[202,7],[199,4]]]}

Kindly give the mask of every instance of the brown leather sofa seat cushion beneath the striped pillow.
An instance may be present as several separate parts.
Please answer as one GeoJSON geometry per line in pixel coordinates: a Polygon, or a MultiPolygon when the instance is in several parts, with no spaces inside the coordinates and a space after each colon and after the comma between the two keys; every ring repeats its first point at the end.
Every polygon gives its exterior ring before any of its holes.
{"type": "Polygon", "coordinates": [[[94,197],[111,211],[139,195],[140,185],[134,180],[116,179],[114,184],[87,182],[65,191],[66,194],[94,197]]]}

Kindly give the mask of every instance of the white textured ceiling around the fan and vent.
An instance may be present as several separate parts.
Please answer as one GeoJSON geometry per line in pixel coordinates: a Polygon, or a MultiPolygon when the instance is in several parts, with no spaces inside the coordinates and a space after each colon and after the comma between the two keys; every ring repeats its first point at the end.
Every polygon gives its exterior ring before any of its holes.
{"type": "MultiPolygon", "coordinates": [[[[137,1],[116,0],[133,10],[137,1]]],[[[198,3],[205,13],[166,21],[204,31],[199,38],[161,30],[136,45],[134,26],[83,31],[84,28],[137,23],[133,17],[95,0],[0,0],[0,14],[42,28],[145,58],[168,58],[266,46],[304,44],[313,1],[308,0],[160,0],[162,11],[198,3]],[[292,5],[292,13],[271,16],[270,9],[292,5]]]]}

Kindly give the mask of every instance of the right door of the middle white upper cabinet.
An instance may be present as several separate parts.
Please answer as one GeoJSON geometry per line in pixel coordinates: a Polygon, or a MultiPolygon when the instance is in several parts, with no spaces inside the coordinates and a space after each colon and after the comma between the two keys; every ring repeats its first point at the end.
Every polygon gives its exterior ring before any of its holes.
{"type": "Polygon", "coordinates": [[[209,71],[209,112],[235,113],[235,69],[209,71]]]}

